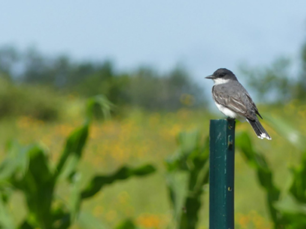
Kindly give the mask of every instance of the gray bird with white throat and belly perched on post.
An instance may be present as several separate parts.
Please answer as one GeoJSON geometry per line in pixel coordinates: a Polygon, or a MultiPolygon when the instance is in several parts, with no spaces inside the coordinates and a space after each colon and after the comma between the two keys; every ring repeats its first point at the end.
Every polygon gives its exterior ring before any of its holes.
{"type": "Polygon", "coordinates": [[[259,138],[271,140],[270,135],[259,122],[257,116],[260,118],[262,116],[258,108],[232,71],[226,68],[219,68],[212,75],[205,78],[214,81],[212,89],[213,100],[225,116],[240,121],[245,119],[259,138]]]}

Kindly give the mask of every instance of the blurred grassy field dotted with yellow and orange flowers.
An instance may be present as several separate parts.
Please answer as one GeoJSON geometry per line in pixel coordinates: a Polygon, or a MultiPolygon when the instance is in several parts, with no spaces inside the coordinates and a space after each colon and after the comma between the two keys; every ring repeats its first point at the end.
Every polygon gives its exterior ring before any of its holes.
{"type": "MultiPolygon", "coordinates": [[[[296,107],[294,103],[288,107],[261,107],[262,116],[279,116],[289,120],[293,115],[297,119],[291,121],[291,126],[305,132],[306,108],[296,107]],[[270,109],[271,110],[271,109],[270,109]]],[[[136,109],[126,112],[121,118],[113,118],[105,122],[95,121],[90,129],[90,139],[80,169],[84,171],[84,183],[96,173],[111,173],[123,164],[141,165],[149,162],[157,166],[154,175],[144,178],[133,178],[117,182],[89,199],[84,206],[86,212],[94,215],[109,228],[113,228],[125,218],[133,218],[143,228],[173,228],[171,208],[165,185],[164,160],[176,149],[175,136],[181,131],[200,130],[203,136],[208,135],[209,120],[222,118],[209,115],[203,110],[181,109],[177,112],[149,113],[136,109]],[[168,227],[169,226],[169,227],[168,227]]],[[[29,117],[3,119],[0,121],[1,157],[5,155],[5,143],[10,139],[18,139],[22,144],[33,141],[40,142],[48,149],[50,161],[56,161],[61,153],[64,140],[68,134],[82,123],[82,115],[62,119],[58,122],[42,122],[29,117]]],[[[290,184],[288,168],[295,165],[300,151],[284,137],[276,134],[267,123],[267,131],[272,141],[261,140],[252,133],[247,123],[238,123],[237,133],[247,130],[253,136],[255,148],[265,153],[265,156],[275,172],[275,182],[282,189],[290,184]]],[[[235,215],[236,228],[268,229],[270,221],[265,205],[263,190],[259,187],[256,174],[244,158],[236,153],[235,177],[235,215]]],[[[57,190],[58,195],[67,198],[65,184],[57,190]]],[[[11,208],[16,214],[16,220],[22,217],[24,208],[14,203],[22,201],[16,195],[11,208]],[[18,216],[17,216],[18,215],[18,216]]],[[[79,227],[75,227],[79,228],[79,227]]],[[[203,195],[203,207],[200,212],[199,228],[208,228],[208,193],[203,195]]],[[[173,228],[174,229],[174,228],[173,228]]]]}

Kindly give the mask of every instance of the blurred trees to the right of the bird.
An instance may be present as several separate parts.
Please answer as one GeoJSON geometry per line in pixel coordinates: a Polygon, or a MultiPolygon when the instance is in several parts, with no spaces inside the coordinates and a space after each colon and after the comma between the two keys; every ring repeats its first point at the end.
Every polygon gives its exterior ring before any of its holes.
{"type": "Polygon", "coordinates": [[[297,63],[281,56],[268,66],[242,65],[240,69],[260,101],[276,105],[291,100],[305,103],[306,41],[301,47],[297,63]]]}

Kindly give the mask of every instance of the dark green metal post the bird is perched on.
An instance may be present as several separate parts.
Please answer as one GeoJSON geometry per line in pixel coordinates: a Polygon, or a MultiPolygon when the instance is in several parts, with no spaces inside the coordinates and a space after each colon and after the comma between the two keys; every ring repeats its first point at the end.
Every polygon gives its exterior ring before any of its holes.
{"type": "Polygon", "coordinates": [[[235,120],[211,120],[209,163],[209,228],[234,229],[235,120]]]}

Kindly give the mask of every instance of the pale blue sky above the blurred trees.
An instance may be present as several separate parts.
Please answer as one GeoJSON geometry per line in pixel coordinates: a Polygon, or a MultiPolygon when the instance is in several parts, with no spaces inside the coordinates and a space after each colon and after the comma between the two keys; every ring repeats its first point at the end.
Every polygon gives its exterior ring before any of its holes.
{"type": "Polygon", "coordinates": [[[111,59],[119,70],[181,63],[203,83],[220,67],[297,60],[306,38],[304,0],[28,0],[2,1],[0,10],[0,46],[111,59]]]}

